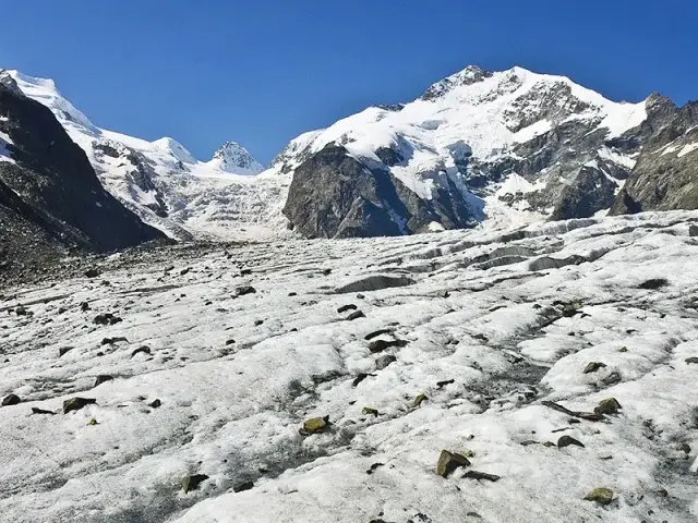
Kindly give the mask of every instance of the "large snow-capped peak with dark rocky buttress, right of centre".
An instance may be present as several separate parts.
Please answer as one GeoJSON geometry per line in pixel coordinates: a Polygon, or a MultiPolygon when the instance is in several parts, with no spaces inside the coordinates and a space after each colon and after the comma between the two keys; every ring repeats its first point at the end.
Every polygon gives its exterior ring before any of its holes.
{"type": "Polygon", "coordinates": [[[280,161],[298,183],[286,214],[306,235],[330,238],[591,216],[612,205],[633,169],[639,149],[622,137],[646,119],[645,102],[613,102],[566,77],[469,66],[410,104],[371,107],[287,147],[280,161]],[[313,183],[323,168],[328,175],[313,183]],[[382,193],[332,175],[365,169],[385,178],[382,193]],[[598,194],[566,205],[579,180],[598,194]],[[333,181],[342,188],[328,188],[333,181]]]}

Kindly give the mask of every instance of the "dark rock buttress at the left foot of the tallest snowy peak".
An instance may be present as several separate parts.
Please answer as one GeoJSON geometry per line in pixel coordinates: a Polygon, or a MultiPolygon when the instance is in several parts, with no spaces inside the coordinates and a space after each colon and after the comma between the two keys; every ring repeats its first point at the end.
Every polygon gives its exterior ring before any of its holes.
{"type": "Polygon", "coordinates": [[[395,236],[422,232],[433,221],[472,226],[465,197],[457,190],[443,193],[423,200],[387,170],[369,169],[329,144],[296,170],[284,214],[306,238],[395,236]]]}

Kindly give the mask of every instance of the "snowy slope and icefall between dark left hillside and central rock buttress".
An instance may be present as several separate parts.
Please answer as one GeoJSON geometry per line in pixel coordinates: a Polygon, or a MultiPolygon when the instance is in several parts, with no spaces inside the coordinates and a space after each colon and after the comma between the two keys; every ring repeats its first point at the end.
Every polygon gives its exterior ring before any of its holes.
{"type": "Polygon", "coordinates": [[[244,239],[284,234],[285,186],[241,145],[228,142],[209,161],[177,141],[155,142],[99,129],[51,80],[8,71],[20,89],[56,114],[89,158],[105,188],[146,223],[178,239],[244,239]]]}

